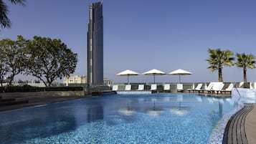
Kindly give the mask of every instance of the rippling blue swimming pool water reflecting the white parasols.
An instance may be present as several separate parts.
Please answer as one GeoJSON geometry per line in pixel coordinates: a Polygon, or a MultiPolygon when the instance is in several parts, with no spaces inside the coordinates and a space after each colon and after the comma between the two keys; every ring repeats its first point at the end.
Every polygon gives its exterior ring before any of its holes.
{"type": "Polygon", "coordinates": [[[0,112],[0,143],[207,143],[230,99],[109,95],[0,112]]]}

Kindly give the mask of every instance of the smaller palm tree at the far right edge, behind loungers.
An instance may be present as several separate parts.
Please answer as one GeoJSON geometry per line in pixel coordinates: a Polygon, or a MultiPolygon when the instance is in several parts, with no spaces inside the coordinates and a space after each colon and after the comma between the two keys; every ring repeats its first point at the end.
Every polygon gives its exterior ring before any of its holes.
{"type": "Polygon", "coordinates": [[[244,70],[244,82],[247,82],[247,75],[246,75],[246,71],[247,71],[247,67],[250,69],[254,69],[255,68],[255,56],[252,54],[236,54],[237,56],[237,62],[235,64],[237,64],[237,67],[242,67],[244,70]]]}

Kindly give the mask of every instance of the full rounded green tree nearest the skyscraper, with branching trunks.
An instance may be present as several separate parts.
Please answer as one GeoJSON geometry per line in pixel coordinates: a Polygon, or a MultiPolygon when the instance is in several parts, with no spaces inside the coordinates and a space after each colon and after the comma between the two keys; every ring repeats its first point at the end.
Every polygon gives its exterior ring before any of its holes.
{"type": "Polygon", "coordinates": [[[27,47],[27,75],[32,75],[51,87],[57,78],[75,72],[77,54],[60,39],[34,37],[27,47]]]}

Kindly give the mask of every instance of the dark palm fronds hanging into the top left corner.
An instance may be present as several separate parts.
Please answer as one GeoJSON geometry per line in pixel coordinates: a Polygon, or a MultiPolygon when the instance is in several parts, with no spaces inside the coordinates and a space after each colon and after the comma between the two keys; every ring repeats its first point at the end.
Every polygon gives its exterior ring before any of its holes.
{"type": "MultiPolygon", "coordinates": [[[[25,1],[26,0],[9,0],[11,2],[11,4],[20,4],[22,6],[25,5],[25,1]]],[[[3,0],[0,0],[0,25],[1,28],[10,28],[11,27],[11,21],[8,18],[7,14],[8,14],[9,10],[8,10],[8,6],[6,6],[6,4],[4,3],[3,0]]]]}

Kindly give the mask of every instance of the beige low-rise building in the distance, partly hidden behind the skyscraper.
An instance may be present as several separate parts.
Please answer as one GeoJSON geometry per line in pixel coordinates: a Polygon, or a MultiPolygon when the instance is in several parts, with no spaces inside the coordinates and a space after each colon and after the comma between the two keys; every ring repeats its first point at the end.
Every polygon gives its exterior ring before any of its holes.
{"type": "MultiPolygon", "coordinates": [[[[108,80],[107,78],[104,78],[103,80],[105,85],[112,85],[113,81],[108,80]]],[[[69,84],[87,84],[87,77],[86,76],[70,76],[70,77],[64,77],[63,83],[68,86],[69,84]]]]}

